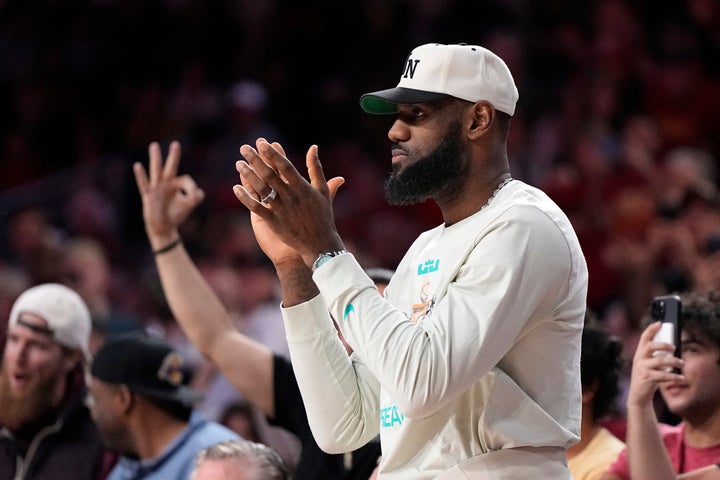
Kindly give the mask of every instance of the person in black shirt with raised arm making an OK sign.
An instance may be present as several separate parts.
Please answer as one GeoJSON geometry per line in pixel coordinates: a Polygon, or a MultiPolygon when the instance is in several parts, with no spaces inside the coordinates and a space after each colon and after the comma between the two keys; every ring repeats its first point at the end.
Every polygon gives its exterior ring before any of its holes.
{"type": "MultiPolygon", "coordinates": [[[[228,382],[274,425],[298,437],[298,479],[367,480],[376,466],[378,442],[347,454],[327,454],[315,442],[290,361],[241,333],[219,296],[191,260],[178,229],[205,198],[192,177],[178,176],[180,144],[173,142],[163,163],[160,146],[150,145],[148,173],[134,166],[143,218],[163,290],[177,322],[193,344],[228,382]]],[[[381,270],[380,282],[387,273],[381,270]]],[[[382,287],[382,285],[381,285],[382,287]]]]}

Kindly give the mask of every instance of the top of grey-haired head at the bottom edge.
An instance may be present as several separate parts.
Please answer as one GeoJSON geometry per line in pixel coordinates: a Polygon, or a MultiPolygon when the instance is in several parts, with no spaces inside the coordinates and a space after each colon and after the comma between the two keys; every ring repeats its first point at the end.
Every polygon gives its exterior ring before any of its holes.
{"type": "Polygon", "coordinates": [[[290,478],[290,469],[277,452],[261,443],[244,439],[221,442],[200,451],[190,476],[190,480],[290,478]]]}

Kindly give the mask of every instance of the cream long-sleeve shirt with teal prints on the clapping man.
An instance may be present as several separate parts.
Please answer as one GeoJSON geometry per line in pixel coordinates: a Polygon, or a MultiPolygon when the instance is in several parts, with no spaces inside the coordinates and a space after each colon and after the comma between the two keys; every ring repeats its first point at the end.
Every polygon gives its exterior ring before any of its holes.
{"type": "Polygon", "coordinates": [[[283,316],[321,448],[379,432],[383,480],[570,478],[587,266],[544,193],[514,180],[423,233],[385,298],[349,254],[313,279],[321,294],[283,316]]]}

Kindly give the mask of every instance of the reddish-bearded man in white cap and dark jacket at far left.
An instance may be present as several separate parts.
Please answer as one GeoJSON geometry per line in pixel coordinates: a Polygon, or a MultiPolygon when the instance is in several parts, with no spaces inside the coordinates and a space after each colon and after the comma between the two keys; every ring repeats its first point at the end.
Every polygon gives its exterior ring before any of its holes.
{"type": "Polygon", "coordinates": [[[101,479],[105,453],[84,400],[90,313],[64,285],[23,292],[0,367],[0,478],[101,479]]]}

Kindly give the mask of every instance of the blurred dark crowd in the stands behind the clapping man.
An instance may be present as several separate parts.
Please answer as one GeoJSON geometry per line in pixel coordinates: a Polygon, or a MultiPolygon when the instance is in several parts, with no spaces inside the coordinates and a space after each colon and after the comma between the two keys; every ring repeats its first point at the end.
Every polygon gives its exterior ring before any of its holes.
{"type": "Polygon", "coordinates": [[[720,288],[715,0],[4,0],[0,318],[28,286],[65,283],[98,342],[157,330],[194,359],[196,383],[227,391],[167,309],[132,176],[151,141],[179,140],[183,173],[207,194],[185,244],[240,329],[285,354],[274,270],[231,190],[238,148],[277,140],[302,169],[318,144],[327,174],[346,179],[343,238],[365,267],[393,269],[440,216],[386,204],[390,121],[358,98],[427,42],[508,63],[513,176],[571,218],[588,305],[627,358],[653,296],[720,288]]]}

